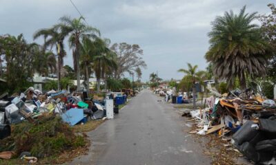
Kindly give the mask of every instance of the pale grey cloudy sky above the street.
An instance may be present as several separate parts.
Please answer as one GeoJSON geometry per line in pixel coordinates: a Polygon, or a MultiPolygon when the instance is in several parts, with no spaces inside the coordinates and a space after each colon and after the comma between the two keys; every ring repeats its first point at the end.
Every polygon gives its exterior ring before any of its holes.
{"type": "MultiPolygon", "coordinates": [[[[152,72],[160,78],[180,79],[187,63],[205,69],[208,32],[215,17],[246,5],[246,12],[269,14],[275,0],[72,0],[86,22],[111,43],[138,44],[144,50],[142,80],[152,72]]],[[[70,0],[0,0],[0,34],[24,34],[28,42],[41,28],[50,28],[63,16],[79,17],[70,0]]],[[[42,40],[36,40],[42,44],[42,40]]],[[[67,43],[67,41],[66,41],[67,43]]],[[[72,51],[66,47],[66,65],[72,51]]],[[[126,74],[126,77],[130,77],[126,74]]]]}

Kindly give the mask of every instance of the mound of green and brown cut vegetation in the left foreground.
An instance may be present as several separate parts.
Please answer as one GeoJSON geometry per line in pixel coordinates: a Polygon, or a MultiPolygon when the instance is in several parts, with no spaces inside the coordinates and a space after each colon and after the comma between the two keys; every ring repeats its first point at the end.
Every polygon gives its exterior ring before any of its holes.
{"type": "Polygon", "coordinates": [[[0,151],[14,151],[15,157],[23,151],[39,158],[55,157],[61,151],[85,146],[86,139],[75,135],[72,128],[54,116],[43,116],[36,123],[14,125],[12,135],[0,141],[0,151]]]}

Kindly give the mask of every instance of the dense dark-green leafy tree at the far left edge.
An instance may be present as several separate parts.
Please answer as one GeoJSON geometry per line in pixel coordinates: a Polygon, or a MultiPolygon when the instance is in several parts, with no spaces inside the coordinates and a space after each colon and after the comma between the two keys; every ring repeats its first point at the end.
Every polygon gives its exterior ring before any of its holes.
{"type": "Polygon", "coordinates": [[[39,45],[27,43],[23,34],[19,36],[6,35],[2,41],[9,91],[23,91],[30,87],[34,73],[34,58],[37,56],[39,45]]]}

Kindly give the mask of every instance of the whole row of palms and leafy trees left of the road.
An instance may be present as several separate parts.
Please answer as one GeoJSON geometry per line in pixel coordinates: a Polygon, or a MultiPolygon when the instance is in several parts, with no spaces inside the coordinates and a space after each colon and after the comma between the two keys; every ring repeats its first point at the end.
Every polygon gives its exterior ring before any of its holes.
{"type": "MultiPolygon", "coordinates": [[[[84,85],[88,89],[89,78],[95,74],[99,93],[101,79],[105,81],[102,89],[107,90],[109,78],[119,80],[126,72],[136,72],[137,81],[140,81],[140,67],[146,67],[139,45],[114,43],[110,46],[110,40],[101,39],[99,30],[87,25],[83,17],[61,17],[50,28],[34,32],[33,38],[43,38],[43,44],[27,43],[23,34],[0,36],[0,78],[7,80],[3,85],[1,82],[1,91],[25,91],[32,86],[34,73],[41,76],[57,75],[57,81],[48,82],[46,89],[66,89],[72,85],[69,80],[77,78],[79,91],[80,78],[85,78],[84,85]],[[72,50],[74,69],[68,65],[63,67],[63,58],[68,54],[64,49],[65,39],[68,39],[68,46],[72,50]],[[55,53],[52,52],[53,48],[55,53]],[[65,77],[68,79],[65,80],[65,77]]],[[[128,82],[122,81],[128,88],[128,84],[125,84],[128,82]]]]}

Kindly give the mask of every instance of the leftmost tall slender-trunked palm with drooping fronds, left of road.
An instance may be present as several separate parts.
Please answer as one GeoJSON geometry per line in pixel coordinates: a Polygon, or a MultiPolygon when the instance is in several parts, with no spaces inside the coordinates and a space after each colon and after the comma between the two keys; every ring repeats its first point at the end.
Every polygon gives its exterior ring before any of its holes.
{"type": "Polygon", "coordinates": [[[61,67],[63,66],[63,58],[66,56],[66,51],[64,50],[64,38],[66,36],[63,31],[54,25],[52,28],[41,29],[34,33],[34,39],[37,39],[39,36],[43,36],[44,45],[43,50],[46,51],[46,47],[56,47],[57,50],[57,89],[61,89],[60,81],[61,81],[61,67]]]}

